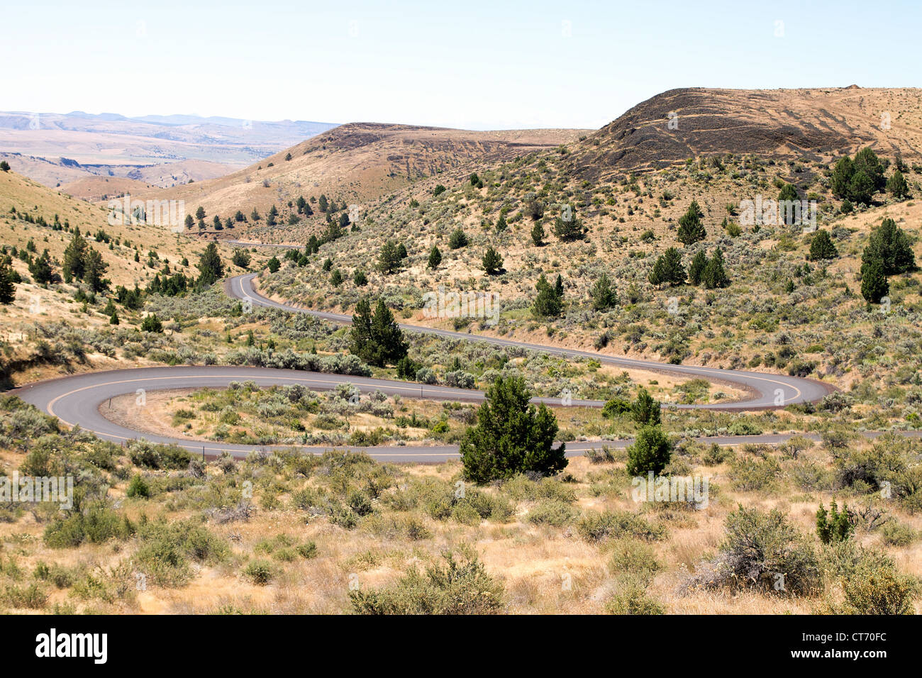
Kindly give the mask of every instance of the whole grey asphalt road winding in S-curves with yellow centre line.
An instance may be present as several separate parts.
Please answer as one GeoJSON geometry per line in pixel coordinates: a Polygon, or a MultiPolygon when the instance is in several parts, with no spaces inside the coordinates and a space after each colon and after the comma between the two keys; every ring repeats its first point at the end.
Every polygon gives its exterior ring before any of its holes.
{"type": "MultiPolygon", "coordinates": [[[[231,278],[225,282],[225,289],[232,297],[254,305],[314,315],[337,323],[350,323],[352,321],[350,315],[313,311],[290,303],[281,303],[268,299],[266,296],[254,290],[253,280],[255,275],[254,273],[250,273],[231,278]]],[[[575,351],[555,346],[514,341],[512,339],[453,332],[435,327],[420,327],[406,324],[401,324],[400,327],[407,331],[423,332],[448,339],[485,341],[498,346],[514,346],[533,351],[545,351],[568,358],[593,358],[601,363],[618,365],[625,368],[642,369],[688,377],[702,377],[709,381],[719,381],[731,384],[751,394],[748,398],[734,402],[710,405],[669,406],[682,409],[774,409],[792,403],[815,401],[834,390],[833,387],[822,384],[822,382],[794,376],[766,375],[738,370],[721,370],[713,367],[655,363],[632,358],[621,358],[593,351],[575,351]]],[[[183,436],[143,433],[110,421],[104,416],[101,410],[106,408],[106,403],[111,398],[124,396],[125,394],[135,394],[136,402],[138,403],[137,406],[144,407],[144,396],[151,391],[172,388],[221,388],[227,387],[232,381],[247,380],[254,381],[261,387],[300,384],[301,386],[313,390],[330,390],[336,388],[339,384],[349,383],[365,393],[380,390],[388,395],[400,395],[405,398],[430,398],[434,400],[451,400],[471,403],[478,403],[484,399],[483,392],[463,388],[427,386],[390,379],[329,375],[299,370],[216,365],[141,367],[106,372],[91,372],[36,382],[14,389],[12,394],[35,405],[40,410],[56,416],[68,425],[73,426],[79,424],[81,428],[97,434],[100,438],[115,443],[121,444],[140,437],[155,443],[183,446],[193,452],[201,452],[207,457],[216,457],[223,452],[229,452],[234,457],[242,458],[250,452],[262,448],[252,445],[196,441],[183,436]]],[[[532,398],[532,401],[536,403],[543,402],[561,405],[561,398],[532,398]]],[[[600,408],[604,405],[604,401],[573,398],[570,404],[574,406],[600,408]]],[[[707,443],[716,442],[722,445],[749,442],[774,444],[786,440],[786,438],[791,435],[792,434],[714,436],[704,437],[701,438],[701,440],[707,443]]],[[[568,457],[577,456],[584,454],[586,450],[592,448],[600,448],[601,446],[623,447],[630,443],[631,441],[629,440],[568,442],[566,444],[566,453],[568,457]]],[[[322,453],[330,448],[330,446],[298,447],[301,451],[312,454],[322,453]]],[[[346,448],[361,449],[372,457],[384,461],[438,462],[446,458],[456,458],[458,455],[457,446],[347,446],[346,448]]]]}

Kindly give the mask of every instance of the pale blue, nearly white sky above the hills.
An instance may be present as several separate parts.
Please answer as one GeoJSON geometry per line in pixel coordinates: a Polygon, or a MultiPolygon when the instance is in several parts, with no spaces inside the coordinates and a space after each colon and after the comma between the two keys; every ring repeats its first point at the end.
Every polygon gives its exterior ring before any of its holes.
{"type": "Polygon", "coordinates": [[[598,128],[681,87],[918,87],[920,2],[0,7],[0,110],[598,128]]]}

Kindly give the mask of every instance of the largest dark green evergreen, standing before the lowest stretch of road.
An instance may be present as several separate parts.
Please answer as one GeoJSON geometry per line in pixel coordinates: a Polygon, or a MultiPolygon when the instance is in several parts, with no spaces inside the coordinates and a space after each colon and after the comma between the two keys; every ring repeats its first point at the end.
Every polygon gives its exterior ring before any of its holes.
{"type": "Polygon", "coordinates": [[[528,402],[531,394],[519,376],[498,377],[487,390],[461,441],[464,479],[486,483],[518,473],[550,475],[567,466],[565,446],[554,446],[557,420],[541,404],[528,402]]]}

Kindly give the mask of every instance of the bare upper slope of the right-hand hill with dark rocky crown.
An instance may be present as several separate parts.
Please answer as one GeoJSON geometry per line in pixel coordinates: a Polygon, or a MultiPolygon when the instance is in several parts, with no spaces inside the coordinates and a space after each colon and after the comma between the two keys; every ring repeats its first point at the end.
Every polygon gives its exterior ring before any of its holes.
{"type": "Polygon", "coordinates": [[[863,146],[917,160],[922,157],[919,98],[919,89],[854,86],[671,89],[574,145],[568,168],[596,181],[713,154],[819,161],[863,146]],[[884,114],[889,114],[889,129],[881,128],[884,114]]]}

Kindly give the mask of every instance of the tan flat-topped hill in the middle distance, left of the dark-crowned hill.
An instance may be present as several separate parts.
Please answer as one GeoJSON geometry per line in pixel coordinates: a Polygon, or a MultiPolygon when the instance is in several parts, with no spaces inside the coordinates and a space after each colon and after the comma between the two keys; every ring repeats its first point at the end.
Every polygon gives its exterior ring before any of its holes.
{"type": "Polygon", "coordinates": [[[182,199],[209,215],[265,212],[298,196],[368,203],[421,178],[459,167],[511,161],[570,143],[583,130],[472,132],[438,127],[341,125],[239,172],[144,197],[182,199]],[[290,160],[285,159],[290,155],[290,160]]]}

